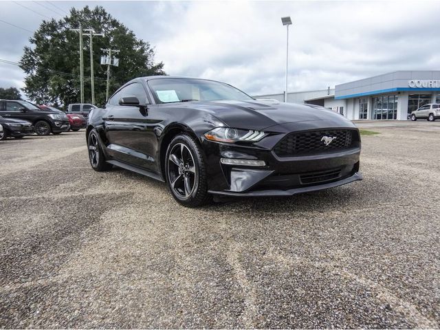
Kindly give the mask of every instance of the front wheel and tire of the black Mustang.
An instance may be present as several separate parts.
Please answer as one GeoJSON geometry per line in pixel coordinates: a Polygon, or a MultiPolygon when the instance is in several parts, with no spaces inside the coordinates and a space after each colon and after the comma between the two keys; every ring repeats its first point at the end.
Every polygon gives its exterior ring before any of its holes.
{"type": "Polygon", "coordinates": [[[195,208],[210,201],[205,160],[189,135],[177,135],[168,145],[165,173],[168,189],[181,205],[195,208]]]}

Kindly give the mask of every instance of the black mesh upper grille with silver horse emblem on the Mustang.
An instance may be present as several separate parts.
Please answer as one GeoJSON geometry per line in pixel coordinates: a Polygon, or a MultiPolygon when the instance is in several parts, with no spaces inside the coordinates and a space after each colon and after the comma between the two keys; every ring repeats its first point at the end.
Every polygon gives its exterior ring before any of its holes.
{"type": "Polygon", "coordinates": [[[278,157],[316,155],[325,151],[342,151],[359,145],[358,131],[350,129],[331,129],[290,133],[274,147],[278,157]],[[326,146],[323,137],[334,137],[326,146]]]}

